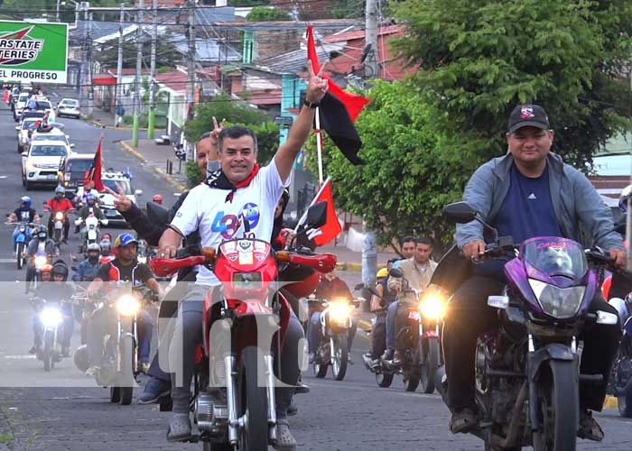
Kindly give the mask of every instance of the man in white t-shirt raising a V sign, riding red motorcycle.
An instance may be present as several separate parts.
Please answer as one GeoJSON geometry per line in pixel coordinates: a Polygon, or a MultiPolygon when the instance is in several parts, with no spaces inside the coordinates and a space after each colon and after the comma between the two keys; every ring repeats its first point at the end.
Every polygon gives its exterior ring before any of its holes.
{"type": "MultiPolygon", "coordinates": [[[[324,66],[323,66],[324,67],[324,66]]],[[[199,229],[202,246],[217,248],[222,241],[254,234],[269,241],[274,224],[274,209],[290,183],[293,161],[311,132],[316,106],[328,89],[326,79],[314,74],[308,65],[309,80],[304,106],[273,161],[264,168],[256,165],[256,136],[244,127],[229,127],[218,136],[221,169],[210,174],[205,183],[191,189],[180,209],[160,239],[159,256],[172,256],[182,238],[199,229]]],[[[322,69],[321,69],[322,71],[322,69]]],[[[202,299],[209,286],[218,285],[213,272],[200,268],[196,288],[182,299],[175,335],[170,347],[170,366],[181,363],[182,381],[172,377],[173,417],[167,439],[183,441],[191,437],[189,402],[191,378],[195,365],[195,349],[202,343],[202,299]]],[[[303,337],[301,323],[294,316],[288,325],[285,345],[280,355],[282,381],[294,386],[300,374],[298,345],[303,337]]],[[[279,356],[277,356],[279,357],[279,356]]],[[[276,365],[274,365],[276,367],[276,365]]],[[[178,368],[179,370],[179,368],[178,368]]],[[[287,423],[287,408],[293,387],[277,388],[277,442],[275,449],[292,450],[296,447],[287,423]]]]}

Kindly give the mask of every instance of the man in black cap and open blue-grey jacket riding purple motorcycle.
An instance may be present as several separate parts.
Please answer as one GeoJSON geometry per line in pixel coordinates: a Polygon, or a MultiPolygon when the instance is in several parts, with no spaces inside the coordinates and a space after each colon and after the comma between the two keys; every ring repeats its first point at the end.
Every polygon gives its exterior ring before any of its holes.
{"type": "MultiPolygon", "coordinates": [[[[608,249],[618,266],[625,253],[621,236],[614,231],[610,210],[590,181],[550,152],[553,130],[542,106],[518,105],[509,116],[509,152],[479,167],[463,193],[483,221],[500,236],[512,236],[516,244],[534,236],[563,236],[582,242],[581,230],[591,243],[608,249]]],[[[489,237],[483,226],[472,221],[458,225],[457,244],[465,256],[478,261],[489,237]],[[487,239],[486,239],[487,238],[487,239]]],[[[490,295],[501,294],[507,281],[502,263],[488,260],[474,265],[451,300],[451,315],[445,319],[443,345],[454,433],[477,426],[474,401],[474,356],[480,333],[494,326],[496,310],[488,308],[490,295]]],[[[590,311],[616,310],[598,292],[590,311]]],[[[600,385],[580,386],[581,421],[578,435],[600,441],[603,431],[590,410],[601,410],[606,396],[609,370],[617,352],[618,325],[595,325],[584,330],[581,373],[602,374],[600,385]]]]}

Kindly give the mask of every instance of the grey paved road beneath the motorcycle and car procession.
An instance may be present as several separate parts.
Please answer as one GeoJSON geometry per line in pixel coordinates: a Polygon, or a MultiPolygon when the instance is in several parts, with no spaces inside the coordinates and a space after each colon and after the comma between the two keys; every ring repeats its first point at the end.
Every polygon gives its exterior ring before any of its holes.
{"type": "MultiPolygon", "coordinates": [[[[157,176],[144,170],[133,157],[120,151],[117,140],[128,132],[97,129],[92,125],[64,119],[76,149],[93,152],[98,135],[105,134],[107,166],[134,172],[135,187],[146,198],[161,193],[172,196],[172,189],[157,176]]],[[[14,123],[5,106],[0,106],[0,211],[10,211],[24,194],[20,183],[20,158],[15,152],[14,123]]],[[[51,190],[29,193],[36,206],[51,196],[51,190]]],[[[32,341],[33,312],[21,295],[23,272],[11,259],[11,228],[0,228],[0,449],[8,442],[15,449],[37,451],[128,451],[130,449],[195,450],[200,445],[170,445],[164,439],[168,413],[156,406],[111,405],[107,391],[95,388],[91,379],[77,371],[71,360],[64,360],[51,373],[27,350],[32,341]]],[[[69,250],[76,249],[72,237],[69,250]]],[[[358,272],[342,272],[352,286],[358,272]]],[[[73,337],[73,345],[79,337],[73,337]]],[[[367,349],[364,333],[358,332],[352,352],[356,364],[343,382],[330,376],[316,380],[305,373],[303,381],[311,393],[298,395],[299,415],[291,424],[302,450],[476,450],[478,439],[452,436],[448,429],[448,410],[437,395],[404,392],[401,379],[392,388],[378,389],[372,374],[360,364],[360,353],[367,349]]],[[[606,431],[603,444],[581,442],[579,449],[627,450],[632,444],[632,422],[619,419],[614,411],[599,415],[606,431]]]]}

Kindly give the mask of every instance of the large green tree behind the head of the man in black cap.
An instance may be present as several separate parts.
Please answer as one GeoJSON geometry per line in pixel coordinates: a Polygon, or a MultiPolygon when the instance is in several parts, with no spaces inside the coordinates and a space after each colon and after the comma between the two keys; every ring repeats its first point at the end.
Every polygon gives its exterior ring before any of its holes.
{"type": "Polygon", "coordinates": [[[395,42],[420,70],[415,84],[460,135],[465,158],[505,152],[507,116],[517,103],[544,106],[553,150],[578,167],[629,126],[626,62],[632,4],[625,0],[404,0],[409,26],[395,42]],[[482,145],[481,145],[482,144],[482,145]]]}

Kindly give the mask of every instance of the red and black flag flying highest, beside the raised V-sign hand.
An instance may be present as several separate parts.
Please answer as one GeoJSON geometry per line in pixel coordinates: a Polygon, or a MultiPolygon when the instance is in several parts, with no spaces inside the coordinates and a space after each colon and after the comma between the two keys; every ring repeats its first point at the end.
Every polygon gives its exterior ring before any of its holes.
{"type": "MultiPolygon", "coordinates": [[[[316,53],[313,25],[307,26],[307,58],[311,60],[314,72],[318,73],[321,64],[316,53]]],[[[362,141],[353,123],[369,99],[343,90],[327,74],[323,74],[322,78],[329,80],[330,88],[319,106],[321,127],[349,161],[353,164],[362,164],[362,160],[358,158],[362,141]]]]}

